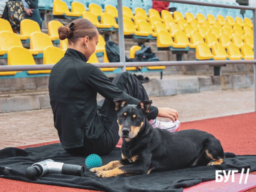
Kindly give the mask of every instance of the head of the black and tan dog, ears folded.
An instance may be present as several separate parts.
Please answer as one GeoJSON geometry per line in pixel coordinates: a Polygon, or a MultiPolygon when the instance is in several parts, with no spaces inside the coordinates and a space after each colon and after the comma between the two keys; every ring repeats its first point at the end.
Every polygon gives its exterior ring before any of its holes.
{"type": "Polygon", "coordinates": [[[138,105],[127,105],[125,100],[115,99],[119,136],[132,139],[137,136],[145,123],[152,101],[142,101],[138,105]]]}

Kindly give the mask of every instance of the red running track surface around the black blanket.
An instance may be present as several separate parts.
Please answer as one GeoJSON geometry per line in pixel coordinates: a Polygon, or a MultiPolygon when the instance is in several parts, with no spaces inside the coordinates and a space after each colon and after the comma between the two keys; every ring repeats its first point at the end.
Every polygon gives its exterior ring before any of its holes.
{"type": "MultiPolygon", "coordinates": [[[[225,152],[235,154],[256,154],[256,113],[245,113],[234,116],[224,116],[213,119],[204,119],[181,124],[181,130],[199,129],[207,131],[221,141],[225,152]]],[[[53,142],[54,143],[54,142],[53,142]]],[[[39,145],[46,145],[44,143],[39,145]]],[[[39,146],[32,145],[32,146],[39,146]]],[[[252,173],[256,174],[256,172],[252,173]]],[[[75,189],[60,186],[49,186],[35,183],[26,183],[16,180],[0,179],[1,192],[94,192],[86,189],[75,189]]],[[[247,192],[256,192],[256,188],[247,192]]]]}

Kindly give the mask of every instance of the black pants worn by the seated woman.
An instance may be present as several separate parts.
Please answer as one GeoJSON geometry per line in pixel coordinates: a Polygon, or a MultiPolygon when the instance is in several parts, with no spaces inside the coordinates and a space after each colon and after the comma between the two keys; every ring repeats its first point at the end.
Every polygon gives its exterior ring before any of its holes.
{"type": "MultiPolygon", "coordinates": [[[[125,91],[125,93],[140,101],[149,100],[145,88],[131,73],[119,73],[113,79],[112,83],[120,90],[125,91]]],[[[93,153],[103,155],[110,153],[115,148],[120,137],[118,134],[119,126],[117,124],[117,113],[114,102],[105,99],[99,111],[102,115],[105,128],[101,136],[93,143],[85,137],[84,147],[65,149],[67,152],[85,155],[93,153]]]]}

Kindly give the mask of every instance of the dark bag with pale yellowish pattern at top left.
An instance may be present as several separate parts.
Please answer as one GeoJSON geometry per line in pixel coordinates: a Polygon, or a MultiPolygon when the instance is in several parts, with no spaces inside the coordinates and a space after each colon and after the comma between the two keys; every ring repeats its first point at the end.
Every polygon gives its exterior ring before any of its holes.
{"type": "Polygon", "coordinates": [[[12,29],[19,31],[20,22],[25,19],[25,9],[21,0],[9,0],[3,11],[3,19],[11,23],[12,29]]]}

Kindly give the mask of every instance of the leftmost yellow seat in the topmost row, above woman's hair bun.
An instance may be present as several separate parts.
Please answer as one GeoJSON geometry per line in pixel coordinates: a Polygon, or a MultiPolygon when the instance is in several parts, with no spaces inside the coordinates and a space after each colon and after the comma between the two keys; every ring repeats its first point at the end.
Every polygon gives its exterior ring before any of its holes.
{"type": "Polygon", "coordinates": [[[61,0],[53,1],[52,15],[66,15],[68,17],[80,17],[82,13],[70,12],[67,3],[61,0]]]}

